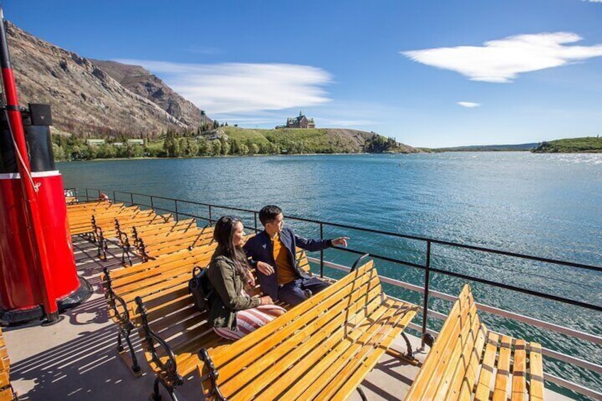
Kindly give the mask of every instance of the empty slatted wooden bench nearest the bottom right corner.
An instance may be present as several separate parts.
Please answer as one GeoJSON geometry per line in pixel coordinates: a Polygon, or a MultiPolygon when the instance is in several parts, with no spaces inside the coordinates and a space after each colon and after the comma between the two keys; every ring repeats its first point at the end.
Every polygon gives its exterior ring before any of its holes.
{"type": "Polygon", "coordinates": [[[541,352],[481,324],[467,284],[405,400],[543,400],[541,352]]]}

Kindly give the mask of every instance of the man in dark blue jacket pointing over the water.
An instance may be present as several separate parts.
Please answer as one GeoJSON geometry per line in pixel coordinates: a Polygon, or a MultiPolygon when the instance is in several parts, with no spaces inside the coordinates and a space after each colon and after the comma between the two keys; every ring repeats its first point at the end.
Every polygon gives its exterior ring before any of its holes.
{"type": "Polygon", "coordinates": [[[263,207],[259,220],[264,230],[249,239],[244,250],[251,265],[257,268],[264,294],[296,305],[328,287],[327,282],[310,277],[297,267],[295,248],[320,251],[329,246],[347,246],[348,237],[320,241],[297,236],[284,226],[282,209],[274,205],[263,207]]]}

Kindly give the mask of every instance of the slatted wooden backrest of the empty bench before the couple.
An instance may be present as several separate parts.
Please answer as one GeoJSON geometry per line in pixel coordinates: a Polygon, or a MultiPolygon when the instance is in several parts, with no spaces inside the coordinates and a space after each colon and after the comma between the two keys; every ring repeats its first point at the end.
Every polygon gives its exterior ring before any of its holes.
{"type": "MultiPolygon", "coordinates": [[[[381,282],[370,261],[241,341],[209,350],[219,371],[221,393],[234,398],[296,399],[312,385],[312,375],[319,375],[341,356],[330,351],[349,340],[351,329],[378,309],[382,297],[381,282]],[[324,369],[312,369],[317,363],[324,369]]],[[[383,322],[388,322],[386,317],[383,322]]],[[[351,336],[355,335],[353,331],[351,336]]],[[[200,368],[202,375],[209,372],[206,364],[200,368]]],[[[211,398],[212,390],[206,380],[205,396],[211,398]]]]}

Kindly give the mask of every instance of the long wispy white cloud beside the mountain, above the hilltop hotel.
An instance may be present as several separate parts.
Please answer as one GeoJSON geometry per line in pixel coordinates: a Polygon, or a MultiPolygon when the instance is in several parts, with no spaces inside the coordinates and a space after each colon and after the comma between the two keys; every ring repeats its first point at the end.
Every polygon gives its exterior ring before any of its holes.
{"type": "Polygon", "coordinates": [[[318,67],[292,64],[179,64],[116,60],[141,65],[159,75],[207,114],[252,113],[324,104],[322,89],[332,76],[318,67]]]}

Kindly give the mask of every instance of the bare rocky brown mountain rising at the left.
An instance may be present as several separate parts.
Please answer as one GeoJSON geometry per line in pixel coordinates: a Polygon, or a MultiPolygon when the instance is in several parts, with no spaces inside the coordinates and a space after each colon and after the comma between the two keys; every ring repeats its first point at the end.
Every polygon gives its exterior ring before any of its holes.
{"type": "Polygon", "coordinates": [[[59,131],[154,138],[198,128],[201,111],[142,67],[94,62],[9,22],[6,30],[19,101],[50,104],[59,131]]]}

